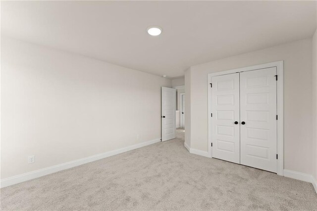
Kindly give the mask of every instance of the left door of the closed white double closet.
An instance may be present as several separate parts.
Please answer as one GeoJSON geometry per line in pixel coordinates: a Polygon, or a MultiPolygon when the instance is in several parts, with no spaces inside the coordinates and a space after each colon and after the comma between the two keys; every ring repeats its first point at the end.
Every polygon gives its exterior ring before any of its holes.
{"type": "Polygon", "coordinates": [[[240,163],[239,73],[212,77],[212,157],[240,163]]]}

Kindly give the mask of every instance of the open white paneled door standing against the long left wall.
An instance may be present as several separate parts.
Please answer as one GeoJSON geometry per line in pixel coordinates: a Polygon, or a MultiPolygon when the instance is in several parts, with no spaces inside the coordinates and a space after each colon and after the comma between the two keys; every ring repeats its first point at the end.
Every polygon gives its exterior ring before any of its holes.
{"type": "Polygon", "coordinates": [[[162,87],[162,141],[176,138],[176,89],[162,87]]]}

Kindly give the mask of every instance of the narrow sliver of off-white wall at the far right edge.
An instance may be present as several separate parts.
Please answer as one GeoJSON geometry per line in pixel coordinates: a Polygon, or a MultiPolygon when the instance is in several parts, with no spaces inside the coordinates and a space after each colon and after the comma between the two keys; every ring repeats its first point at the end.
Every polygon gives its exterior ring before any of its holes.
{"type": "Polygon", "coordinates": [[[317,30],[313,36],[313,176],[317,181],[317,30]]]}

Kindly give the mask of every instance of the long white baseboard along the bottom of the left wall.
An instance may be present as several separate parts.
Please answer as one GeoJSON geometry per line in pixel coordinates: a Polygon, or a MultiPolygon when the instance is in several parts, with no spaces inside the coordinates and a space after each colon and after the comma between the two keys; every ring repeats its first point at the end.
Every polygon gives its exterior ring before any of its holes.
{"type": "Polygon", "coordinates": [[[27,180],[30,180],[30,179],[35,179],[35,178],[38,178],[38,177],[41,177],[41,176],[45,176],[45,175],[48,175],[48,174],[51,174],[51,173],[54,173],[54,172],[57,172],[57,171],[60,171],[60,170],[65,170],[65,169],[70,169],[70,168],[73,168],[73,167],[77,167],[77,166],[80,166],[80,165],[83,165],[83,164],[87,164],[87,163],[90,163],[90,162],[93,162],[93,161],[97,161],[97,160],[100,160],[100,159],[103,159],[103,158],[107,158],[107,157],[110,157],[110,156],[113,156],[113,155],[117,155],[117,154],[120,154],[120,153],[123,153],[123,152],[127,152],[127,151],[130,151],[130,150],[134,150],[134,149],[137,149],[137,148],[141,148],[141,147],[150,145],[150,144],[154,144],[154,143],[157,143],[159,141],[160,141],[160,138],[157,138],[157,139],[154,139],[154,140],[151,140],[151,141],[146,141],[146,142],[142,142],[142,143],[139,143],[139,144],[134,144],[134,145],[131,145],[131,146],[128,146],[128,147],[123,147],[123,148],[120,148],[120,149],[116,149],[116,150],[112,150],[112,151],[109,151],[109,152],[105,152],[105,153],[89,156],[89,157],[78,159],[78,160],[75,160],[75,161],[70,161],[70,162],[67,162],[67,163],[58,164],[58,165],[55,165],[55,166],[52,166],[52,167],[39,169],[39,170],[35,170],[35,171],[19,174],[19,175],[16,175],[16,176],[11,176],[11,177],[8,177],[8,178],[0,180],[0,187],[2,188],[2,187],[14,185],[14,184],[17,184],[17,183],[20,183],[20,182],[24,182],[24,181],[27,181],[27,180]]]}

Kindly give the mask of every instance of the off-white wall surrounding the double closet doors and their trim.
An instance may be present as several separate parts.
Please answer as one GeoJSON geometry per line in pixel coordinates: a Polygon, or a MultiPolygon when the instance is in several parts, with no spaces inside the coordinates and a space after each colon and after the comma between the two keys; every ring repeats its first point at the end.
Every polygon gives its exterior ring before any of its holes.
{"type": "Polygon", "coordinates": [[[284,168],[313,173],[311,39],[191,67],[185,74],[186,105],[191,106],[185,137],[191,148],[208,151],[208,74],[278,60],[284,60],[284,168]]]}

